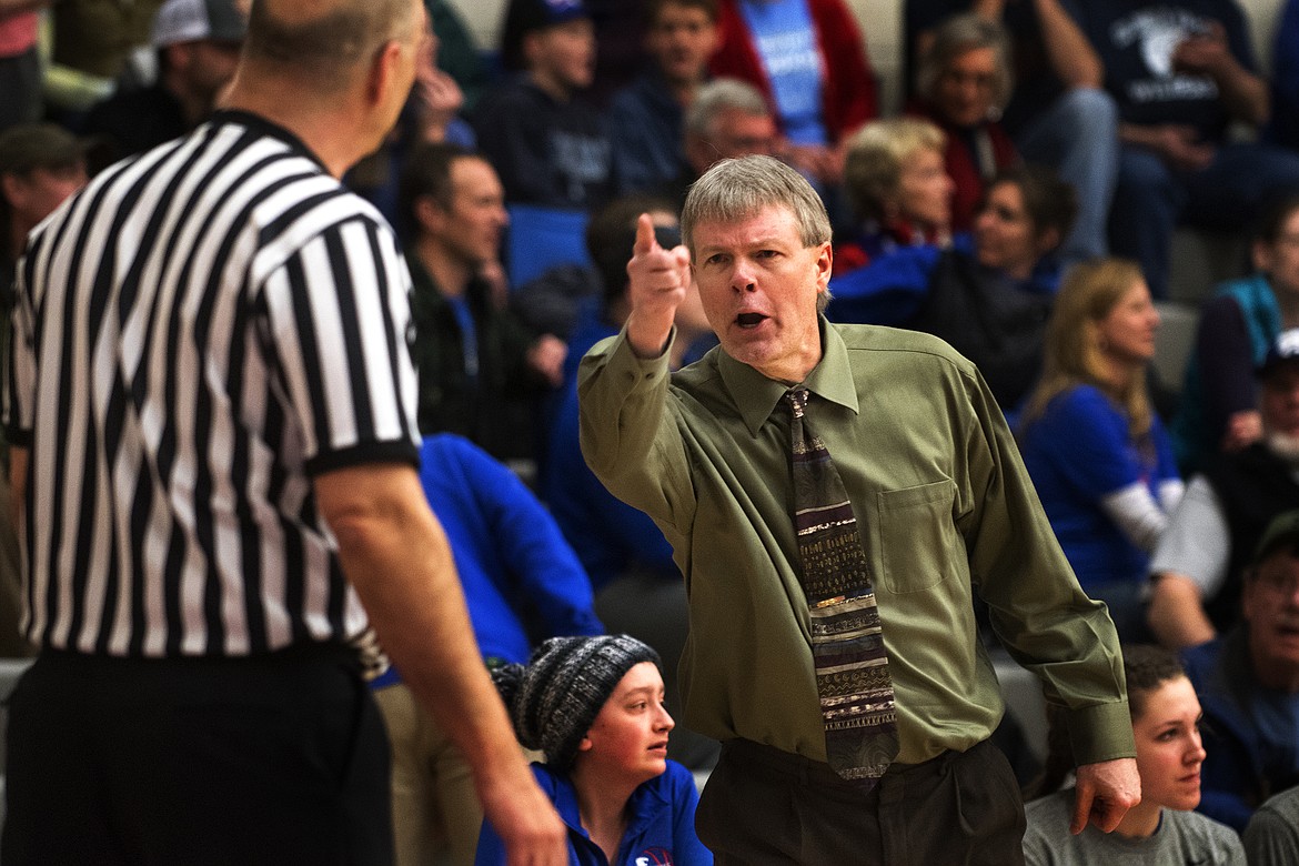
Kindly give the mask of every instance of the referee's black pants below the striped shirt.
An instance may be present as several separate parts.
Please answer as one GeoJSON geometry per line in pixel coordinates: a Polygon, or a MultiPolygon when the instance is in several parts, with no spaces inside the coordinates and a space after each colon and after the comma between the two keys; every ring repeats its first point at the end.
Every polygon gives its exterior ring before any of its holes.
{"type": "Polygon", "coordinates": [[[0,862],[392,861],[388,748],[355,652],[45,652],[9,704],[0,862]]]}

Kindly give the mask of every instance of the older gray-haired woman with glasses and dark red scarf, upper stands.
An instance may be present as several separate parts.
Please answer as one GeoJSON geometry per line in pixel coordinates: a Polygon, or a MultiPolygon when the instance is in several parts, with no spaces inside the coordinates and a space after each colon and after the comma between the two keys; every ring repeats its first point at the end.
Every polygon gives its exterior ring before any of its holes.
{"type": "Polygon", "coordinates": [[[916,73],[914,114],[947,134],[944,160],[956,184],[952,229],[973,225],[985,184],[1016,161],[998,119],[1011,99],[1011,47],[1005,29],[974,13],[953,16],[934,31],[916,73]]]}

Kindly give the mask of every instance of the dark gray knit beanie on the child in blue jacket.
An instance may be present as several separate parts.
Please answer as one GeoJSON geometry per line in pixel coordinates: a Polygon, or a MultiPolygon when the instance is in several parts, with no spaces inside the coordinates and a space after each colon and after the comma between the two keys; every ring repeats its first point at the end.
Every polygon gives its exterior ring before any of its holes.
{"type": "Polygon", "coordinates": [[[662,669],[659,653],[627,635],[551,637],[527,667],[505,665],[492,680],[514,723],[518,741],[568,770],[582,737],[622,676],[640,662],[662,669]]]}

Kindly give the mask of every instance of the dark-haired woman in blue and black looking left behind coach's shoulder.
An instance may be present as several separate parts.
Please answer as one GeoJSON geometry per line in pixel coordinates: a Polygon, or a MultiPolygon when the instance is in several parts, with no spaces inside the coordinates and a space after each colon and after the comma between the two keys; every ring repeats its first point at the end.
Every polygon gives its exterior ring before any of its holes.
{"type": "Polygon", "coordinates": [[[943,338],[978,365],[1002,408],[1012,409],[1042,365],[1059,279],[1055,251],[1073,216],[1073,188],[1053,171],[1007,169],[989,184],[970,235],[950,249],[907,247],[837,275],[826,315],[943,338]]]}

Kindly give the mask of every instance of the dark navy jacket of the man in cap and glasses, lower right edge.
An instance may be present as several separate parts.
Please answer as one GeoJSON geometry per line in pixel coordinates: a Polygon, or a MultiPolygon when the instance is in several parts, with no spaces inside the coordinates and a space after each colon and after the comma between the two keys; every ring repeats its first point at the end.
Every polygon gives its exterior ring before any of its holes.
{"type": "MultiPolygon", "coordinates": [[[[1291,718],[1289,736],[1273,739],[1256,721],[1267,691],[1257,684],[1250,663],[1247,626],[1225,637],[1183,650],[1186,675],[1204,710],[1204,765],[1200,767],[1200,805],[1196,811],[1238,832],[1269,796],[1299,784],[1299,718],[1291,718]]],[[[1299,702],[1273,695],[1272,706],[1299,702]]]]}

